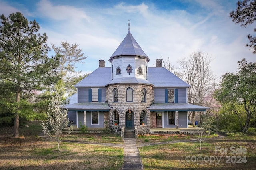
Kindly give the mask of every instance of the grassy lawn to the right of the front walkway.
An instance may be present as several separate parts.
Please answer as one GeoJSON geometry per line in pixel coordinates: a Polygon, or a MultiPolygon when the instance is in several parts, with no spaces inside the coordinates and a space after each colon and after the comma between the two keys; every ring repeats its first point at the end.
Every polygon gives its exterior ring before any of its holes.
{"type": "Polygon", "coordinates": [[[203,140],[202,150],[200,142],[144,146],[139,150],[145,170],[248,170],[256,167],[255,143],[255,136],[227,137],[203,140]]]}

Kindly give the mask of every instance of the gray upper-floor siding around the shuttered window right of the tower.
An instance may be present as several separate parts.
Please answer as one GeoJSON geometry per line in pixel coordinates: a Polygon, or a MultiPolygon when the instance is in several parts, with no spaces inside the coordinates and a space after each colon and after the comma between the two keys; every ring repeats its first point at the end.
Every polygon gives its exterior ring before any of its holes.
{"type": "MultiPolygon", "coordinates": [[[[171,87],[168,87],[171,88],[171,87]]],[[[155,103],[165,103],[164,101],[164,90],[168,89],[166,87],[163,88],[154,88],[154,101],[155,103]]],[[[187,89],[186,88],[176,88],[178,89],[178,103],[187,103],[187,89]]]]}

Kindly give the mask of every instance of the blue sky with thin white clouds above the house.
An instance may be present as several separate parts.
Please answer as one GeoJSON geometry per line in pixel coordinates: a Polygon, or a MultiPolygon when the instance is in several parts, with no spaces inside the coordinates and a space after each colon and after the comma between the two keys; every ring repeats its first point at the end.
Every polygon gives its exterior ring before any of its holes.
{"type": "MultiPolygon", "coordinates": [[[[201,51],[212,59],[211,69],[220,78],[235,72],[237,61],[256,62],[256,55],[245,47],[253,26],[234,24],[229,13],[238,0],[0,0],[0,14],[22,12],[36,20],[40,32],[48,36],[48,45],[61,41],[79,44],[85,56],[77,69],[88,73],[98,61],[108,61],[130,32],[150,58],[177,61],[201,51]]],[[[54,55],[53,51],[49,55],[54,55]]]]}

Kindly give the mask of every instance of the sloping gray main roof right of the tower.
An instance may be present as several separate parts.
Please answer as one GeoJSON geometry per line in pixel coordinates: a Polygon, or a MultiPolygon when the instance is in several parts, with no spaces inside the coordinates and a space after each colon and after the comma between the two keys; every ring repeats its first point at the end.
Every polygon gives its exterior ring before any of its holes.
{"type": "Polygon", "coordinates": [[[148,68],[148,81],[154,87],[190,87],[185,81],[164,67],[148,68]]]}

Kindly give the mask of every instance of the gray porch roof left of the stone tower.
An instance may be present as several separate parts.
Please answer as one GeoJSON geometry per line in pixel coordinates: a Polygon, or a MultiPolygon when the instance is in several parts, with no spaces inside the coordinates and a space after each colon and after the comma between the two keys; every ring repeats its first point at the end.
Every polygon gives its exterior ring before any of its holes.
{"type": "Polygon", "coordinates": [[[68,111],[110,111],[108,103],[73,103],[62,107],[68,111]]]}

